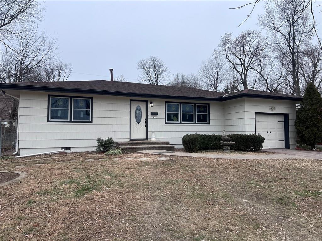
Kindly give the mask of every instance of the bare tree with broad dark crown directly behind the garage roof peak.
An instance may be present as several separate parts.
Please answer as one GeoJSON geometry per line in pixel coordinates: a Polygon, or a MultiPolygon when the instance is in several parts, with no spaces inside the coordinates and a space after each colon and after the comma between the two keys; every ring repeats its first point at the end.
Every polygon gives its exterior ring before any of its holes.
{"type": "Polygon", "coordinates": [[[220,41],[219,50],[216,54],[225,56],[230,67],[236,71],[240,78],[240,84],[244,89],[255,85],[247,77],[252,65],[257,61],[267,46],[266,40],[259,31],[248,30],[235,38],[231,33],[226,33],[220,41]]]}

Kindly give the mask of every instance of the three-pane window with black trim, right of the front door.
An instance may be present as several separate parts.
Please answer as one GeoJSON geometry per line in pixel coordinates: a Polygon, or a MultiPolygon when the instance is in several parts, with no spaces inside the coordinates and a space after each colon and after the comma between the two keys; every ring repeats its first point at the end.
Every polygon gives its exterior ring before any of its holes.
{"type": "Polygon", "coordinates": [[[209,104],[166,102],[168,124],[210,124],[209,104]]]}

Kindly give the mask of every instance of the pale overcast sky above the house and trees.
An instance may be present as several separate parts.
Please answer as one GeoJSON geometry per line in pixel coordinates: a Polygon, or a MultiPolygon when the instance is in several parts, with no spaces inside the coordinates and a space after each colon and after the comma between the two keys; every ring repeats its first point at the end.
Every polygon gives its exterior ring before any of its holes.
{"type": "MultiPolygon", "coordinates": [[[[136,82],[137,62],[142,58],[154,55],[162,59],[172,74],[197,73],[226,31],[237,35],[260,29],[257,15],[263,2],[238,27],[251,6],[229,8],[245,3],[46,1],[40,26],[57,35],[62,60],[73,65],[69,80],[109,80],[109,68],[113,68],[114,76],[123,74],[136,82]]],[[[321,14],[318,17],[321,36],[321,14]]]]}

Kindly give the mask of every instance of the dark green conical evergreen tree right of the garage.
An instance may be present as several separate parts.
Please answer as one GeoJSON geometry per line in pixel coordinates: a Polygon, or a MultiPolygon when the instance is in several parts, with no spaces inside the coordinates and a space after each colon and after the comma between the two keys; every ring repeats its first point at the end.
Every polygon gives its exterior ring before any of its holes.
{"type": "Polygon", "coordinates": [[[322,97],[312,83],[308,84],[296,113],[295,128],[299,144],[315,148],[322,141],[322,97]]]}

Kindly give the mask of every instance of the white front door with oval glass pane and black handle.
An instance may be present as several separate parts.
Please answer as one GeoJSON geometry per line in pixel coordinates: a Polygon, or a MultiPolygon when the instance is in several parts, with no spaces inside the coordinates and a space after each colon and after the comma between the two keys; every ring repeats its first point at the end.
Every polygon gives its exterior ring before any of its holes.
{"type": "Polygon", "coordinates": [[[130,140],[147,139],[147,102],[130,102],[130,140]]]}

